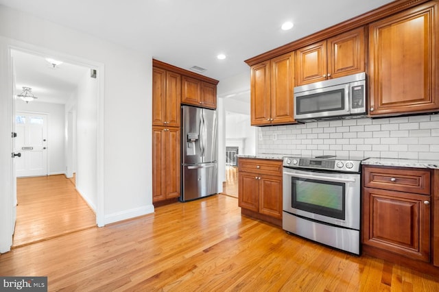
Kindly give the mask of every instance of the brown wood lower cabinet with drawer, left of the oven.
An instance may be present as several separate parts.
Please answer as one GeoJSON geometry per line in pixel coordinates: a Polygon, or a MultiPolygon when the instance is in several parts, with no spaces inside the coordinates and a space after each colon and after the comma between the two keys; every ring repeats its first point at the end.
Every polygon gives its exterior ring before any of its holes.
{"type": "Polygon", "coordinates": [[[239,158],[238,163],[242,214],[282,226],[282,161],[239,158]]]}

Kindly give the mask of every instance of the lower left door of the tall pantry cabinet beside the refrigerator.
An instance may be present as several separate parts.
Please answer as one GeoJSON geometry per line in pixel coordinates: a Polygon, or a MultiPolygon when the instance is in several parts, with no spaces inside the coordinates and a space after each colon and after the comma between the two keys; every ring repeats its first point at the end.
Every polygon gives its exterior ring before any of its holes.
{"type": "Polygon", "coordinates": [[[165,127],[152,127],[152,202],[166,198],[165,127]]]}

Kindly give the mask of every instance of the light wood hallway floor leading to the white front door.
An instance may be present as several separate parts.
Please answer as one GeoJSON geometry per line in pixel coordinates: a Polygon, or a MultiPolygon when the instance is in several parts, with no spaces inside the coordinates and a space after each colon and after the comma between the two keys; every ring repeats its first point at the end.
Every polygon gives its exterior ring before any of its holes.
{"type": "Polygon", "coordinates": [[[64,175],[17,179],[13,247],[96,226],[95,213],[74,182],[64,175]]]}

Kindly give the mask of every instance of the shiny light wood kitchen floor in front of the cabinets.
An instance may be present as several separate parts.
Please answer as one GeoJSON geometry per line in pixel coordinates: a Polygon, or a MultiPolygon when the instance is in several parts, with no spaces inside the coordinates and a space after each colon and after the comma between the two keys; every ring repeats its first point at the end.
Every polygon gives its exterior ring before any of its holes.
{"type": "Polygon", "coordinates": [[[439,291],[437,278],[243,217],[227,195],[16,248],[0,275],[48,276],[49,291],[439,291]]]}

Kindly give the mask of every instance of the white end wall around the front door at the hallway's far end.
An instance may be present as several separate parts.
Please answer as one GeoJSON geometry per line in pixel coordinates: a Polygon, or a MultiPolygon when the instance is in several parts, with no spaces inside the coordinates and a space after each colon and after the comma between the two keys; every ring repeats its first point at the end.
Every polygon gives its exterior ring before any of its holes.
{"type": "Polygon", "coordinates": [[[15,103],[16,111],[47,114],[47,173],[49,175],[65,173],[64,162],[64,105],[31,101],[28,104],[21,99],[15,103]]]}

